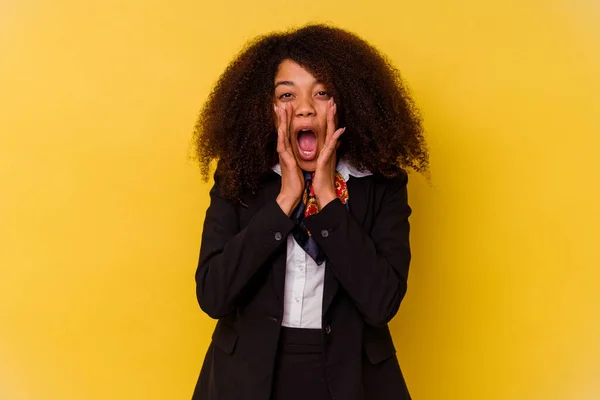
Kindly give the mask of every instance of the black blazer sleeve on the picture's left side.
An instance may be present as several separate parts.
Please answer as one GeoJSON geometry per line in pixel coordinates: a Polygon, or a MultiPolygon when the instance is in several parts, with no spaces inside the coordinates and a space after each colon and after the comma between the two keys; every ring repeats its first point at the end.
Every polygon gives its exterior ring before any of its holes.
{"type": "Polygon", "coordinates": [[[218,319],[236,308],[261,266],[285,244],[294,222],[271,199],[240,229],[238,206],[221,197],[217,183],[210,199],[196,270],[196,297],[200,308],[218,319]]]}

